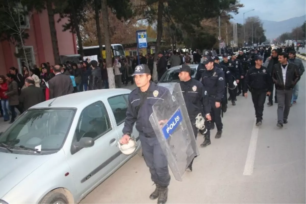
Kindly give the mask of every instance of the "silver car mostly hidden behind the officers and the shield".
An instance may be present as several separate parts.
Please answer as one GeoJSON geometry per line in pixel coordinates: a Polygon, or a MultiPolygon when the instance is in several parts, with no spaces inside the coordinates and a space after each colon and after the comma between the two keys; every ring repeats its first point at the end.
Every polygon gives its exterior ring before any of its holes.
{"type": "MultiPolygon", "coordinates": [[[[189,66],[191,68],[191,77],[192,78],[196,77],[196,69],[198,68],[198,65],[190,64],[189,66]]],[[[172,93],[174,84],[180,82],[180,78],[178,77],[179,73],[174,72],[174,70],[177,70],[179,68],[180,66],[174,66],[168,69],[160,78],[158,85],[166,87],[172,93]]]]}

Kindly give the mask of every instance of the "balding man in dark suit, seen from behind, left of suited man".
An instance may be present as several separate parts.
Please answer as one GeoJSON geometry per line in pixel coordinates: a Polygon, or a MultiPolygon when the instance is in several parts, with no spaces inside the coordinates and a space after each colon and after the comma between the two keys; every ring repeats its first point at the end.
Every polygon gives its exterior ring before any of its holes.
{"type": "Polygon", "coordinates": [[[21,89],[19,102],[23,104],[23,110],[26,111],[30,107],[43,102],[44,95],[43,90],[35,86],[35,81],[32,77],[26,78],[24,84],[27,88],[21,89]]]}

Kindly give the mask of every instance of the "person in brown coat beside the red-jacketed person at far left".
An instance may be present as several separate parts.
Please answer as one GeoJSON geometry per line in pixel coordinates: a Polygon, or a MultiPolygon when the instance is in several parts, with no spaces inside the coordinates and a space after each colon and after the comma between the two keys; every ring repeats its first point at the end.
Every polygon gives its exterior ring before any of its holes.
{"type": "Polygon", "coordinates": [[[8,92],[4,93],[6,96],[9,96],[9,109],[12,112],[12,119],[9,124],[13,123],[16,118],[16,111],[15,108],[19,105],[18,100],[18,84],[14,80],[14,76],[12,74],[6,74],[6,81],[9,82],[9,90],[8,92]]]}

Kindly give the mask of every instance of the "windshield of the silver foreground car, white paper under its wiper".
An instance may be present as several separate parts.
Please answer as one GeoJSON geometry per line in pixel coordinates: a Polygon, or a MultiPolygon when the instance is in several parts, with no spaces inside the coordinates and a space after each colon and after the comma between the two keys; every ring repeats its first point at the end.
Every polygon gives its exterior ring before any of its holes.
{"type": "Polygon", "coordinates": [[[23,150],[57,151],[65,141],[74,113],[75,109],[30,109],[0,136],[0,143],[13,150],[21,146],[23,150]]]}

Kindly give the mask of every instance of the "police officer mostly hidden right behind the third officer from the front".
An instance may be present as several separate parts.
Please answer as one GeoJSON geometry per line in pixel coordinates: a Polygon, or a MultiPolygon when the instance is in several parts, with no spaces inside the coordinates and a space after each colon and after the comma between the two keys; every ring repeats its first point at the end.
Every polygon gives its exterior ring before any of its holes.
{"type": "MultiPolygon", "coordinates": [[[[224,96],[222,97],[222,111],[225,113],[226,110],[227,110],[227,84],[228,83],[233,83],[233,77],[232,77],[232,74],[230,73],[230,70],[229,68],[227,68],[227,66],[225,65],[220,65],[220,59],[218,56],[215,56],[214,57],[214,63],[215,63],[215,66],[219,69],[221,69],[225,75],[225,93],[224,93],[224,96]]],[[[215,124],[214,124],[214,121],[211,121],[211,130],[215,128],[215,124]]]]}

